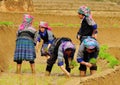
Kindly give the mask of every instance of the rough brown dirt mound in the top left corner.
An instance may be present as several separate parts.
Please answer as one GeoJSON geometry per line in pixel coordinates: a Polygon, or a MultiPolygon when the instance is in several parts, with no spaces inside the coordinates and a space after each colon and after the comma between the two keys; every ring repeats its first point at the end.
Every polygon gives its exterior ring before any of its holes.
{"type": "Polygon", "coordinates": [[[27,12],[34,11],[32,0],[0,0],[2,12],[27,12]]]}

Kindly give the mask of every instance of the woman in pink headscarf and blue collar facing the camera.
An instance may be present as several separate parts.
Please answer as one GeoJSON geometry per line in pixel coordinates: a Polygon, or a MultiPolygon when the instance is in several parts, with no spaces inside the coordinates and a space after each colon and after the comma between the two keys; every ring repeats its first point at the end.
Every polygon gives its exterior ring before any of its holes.
{"type": "Polygon", "coordinates": [[[51,31],[51,28],[48,26],[47,22],[43,22],[43,21],[40,22],[38,34],[40,35],[40,37],[38,37],[37,39],[38,40],[37,47],[38,47],[39,42],[42,39],[43,44],[41,47],[41,56],[48,57],[47,51],[50,45],[52,44],[53,40],[55,39],[55,37],[51,31]]]}

